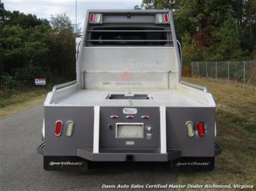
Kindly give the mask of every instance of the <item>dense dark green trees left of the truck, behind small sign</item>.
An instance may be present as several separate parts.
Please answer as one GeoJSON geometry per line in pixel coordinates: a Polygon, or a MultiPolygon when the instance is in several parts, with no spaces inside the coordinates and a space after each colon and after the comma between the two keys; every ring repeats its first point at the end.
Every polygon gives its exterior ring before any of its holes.
{"type": "Polygon", "coordinates": [[[75,37],[79,35],[66,14],[38,19],[7,11],[0,3],[1,88],[22,88],[35,78],[47,82],[74,80],[75,37]]]}

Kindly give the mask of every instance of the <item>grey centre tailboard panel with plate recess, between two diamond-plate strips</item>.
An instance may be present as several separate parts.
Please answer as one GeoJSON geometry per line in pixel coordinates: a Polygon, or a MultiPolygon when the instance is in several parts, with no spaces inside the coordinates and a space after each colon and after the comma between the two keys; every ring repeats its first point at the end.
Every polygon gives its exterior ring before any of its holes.
{"type": "Polygon", "coordinates": [[[159,121],[159,107],[101,107],[100,149],[159,149],[159,121]]]}

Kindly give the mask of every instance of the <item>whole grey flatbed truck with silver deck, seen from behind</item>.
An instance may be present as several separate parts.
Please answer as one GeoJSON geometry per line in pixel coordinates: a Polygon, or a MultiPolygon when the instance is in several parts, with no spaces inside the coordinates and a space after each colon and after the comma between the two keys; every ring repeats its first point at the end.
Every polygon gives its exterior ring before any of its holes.
{"type": "Polygon", "coordinates": [[[172,12],[89,10],[76,80],[44,103],[46,170],[89,162],[169,162],[172,170],[214,168],[216,103],[206,87],[181,80],[172,12]]]}

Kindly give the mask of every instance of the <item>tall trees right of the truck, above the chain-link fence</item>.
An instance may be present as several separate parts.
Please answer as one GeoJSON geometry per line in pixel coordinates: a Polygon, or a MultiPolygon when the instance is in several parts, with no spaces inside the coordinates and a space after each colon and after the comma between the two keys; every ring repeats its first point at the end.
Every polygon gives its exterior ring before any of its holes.
{"type": "Polygon", "coordinates": [[[135,9],[172,9],[183,62],[256,60],[256,1],[143,0],[135,9]]]}

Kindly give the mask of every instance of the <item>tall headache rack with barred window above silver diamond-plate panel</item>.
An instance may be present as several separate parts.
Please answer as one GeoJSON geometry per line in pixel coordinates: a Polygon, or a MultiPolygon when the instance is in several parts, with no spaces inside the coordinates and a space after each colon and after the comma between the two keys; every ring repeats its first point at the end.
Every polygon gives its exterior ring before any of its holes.
{"type": "Polygon", "coordinates": [[[81,87],[173,88],[177,66],[172,65],[175,42],[170,17],[165,11],[89,11],[82,43],[84,62],[79,68],[81,87]]]}

